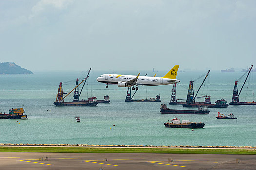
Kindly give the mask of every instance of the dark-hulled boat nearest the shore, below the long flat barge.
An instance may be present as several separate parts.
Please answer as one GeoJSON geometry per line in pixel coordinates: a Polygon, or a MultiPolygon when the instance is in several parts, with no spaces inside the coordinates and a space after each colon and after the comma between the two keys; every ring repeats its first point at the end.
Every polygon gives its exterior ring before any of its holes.
{"type": "Polygon", "coordinates": [[[197,128],[203,128],[204,123],[199,122],[199,123],[194,123],[190,122],[189,120],[182,120],[180,122],[179,119],[174,118],[171,119],[170,122],[168,120],[167,123],[164,123],[165,127],[170,127],[170,128],[191,128],[191,129],[197,129],[197,128]]]}

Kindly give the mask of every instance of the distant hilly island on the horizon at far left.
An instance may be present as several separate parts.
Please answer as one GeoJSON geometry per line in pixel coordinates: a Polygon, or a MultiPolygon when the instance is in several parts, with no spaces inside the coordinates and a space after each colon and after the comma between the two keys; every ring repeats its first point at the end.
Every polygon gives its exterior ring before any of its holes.
{"type": "Polygon", "coordinates": [[[15,63],[11,62],[0,62],[0,74],[33,74],[33,72],[22,68],[15,63]]]}

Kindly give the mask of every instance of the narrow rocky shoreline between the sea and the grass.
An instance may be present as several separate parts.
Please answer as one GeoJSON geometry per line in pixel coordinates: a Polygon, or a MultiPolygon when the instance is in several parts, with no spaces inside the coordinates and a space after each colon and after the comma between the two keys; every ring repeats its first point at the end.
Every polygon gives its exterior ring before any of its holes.
{"type": "Polygon", "coordinates": [[[253,149],[256,146],[190,146],[190,145],[88,145],[88,144],[29,144],[29,143],[0,143],[0,146],[5,147],[79,147],[79,148],[184,148],[184,149],[253,149]]]}

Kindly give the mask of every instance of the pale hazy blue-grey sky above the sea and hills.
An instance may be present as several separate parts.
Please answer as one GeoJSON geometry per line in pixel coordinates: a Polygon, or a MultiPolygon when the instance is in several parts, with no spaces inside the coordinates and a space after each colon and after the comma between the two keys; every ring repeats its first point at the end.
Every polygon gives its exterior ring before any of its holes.
{"type": "Polygon", "coordinates": [[[31,71],[256,65],[256,0],[0,0],[0,62],[31,71]]]}

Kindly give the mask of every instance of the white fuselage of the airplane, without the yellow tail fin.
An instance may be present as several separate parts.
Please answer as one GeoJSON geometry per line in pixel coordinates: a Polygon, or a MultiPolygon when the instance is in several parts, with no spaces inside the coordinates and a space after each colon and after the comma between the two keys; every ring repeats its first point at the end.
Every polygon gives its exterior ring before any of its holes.
{"type": "MultiPolygon", "coordinates": [[[[98,77],[96,80],[98,82],[106,84],[118,84],[118,82],[127,82],[136,78],[135,75],[119,75],[119,74],[103,74],[98,77]]],[[[173,83],[178,83],[180,80],[177,79],[168,79],[163,77],[149,77],[149,76],[138,76],[136,85],[168,85],[173,83]]],[[[133,86],[133,85],[132,85],[133,86]]]]}

